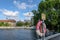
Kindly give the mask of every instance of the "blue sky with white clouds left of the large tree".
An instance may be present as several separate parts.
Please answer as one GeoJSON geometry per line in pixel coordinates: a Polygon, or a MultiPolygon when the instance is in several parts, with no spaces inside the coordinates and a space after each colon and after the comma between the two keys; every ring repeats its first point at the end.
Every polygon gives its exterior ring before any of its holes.
{"type": "Polygon", "coordinates": [[[0,0],[0,20],[30,20],[41,0],[0,0]]]}

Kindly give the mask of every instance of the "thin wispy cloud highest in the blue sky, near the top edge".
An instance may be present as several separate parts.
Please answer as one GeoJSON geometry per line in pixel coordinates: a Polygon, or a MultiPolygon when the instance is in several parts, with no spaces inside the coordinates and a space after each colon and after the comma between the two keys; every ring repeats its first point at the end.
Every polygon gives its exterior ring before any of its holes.
{"type": "Polygon", "coordinates": [[[30,5],[30,4],[26,4],[25,2],[18,2],[18,1],[13,1],[14,5],[19,8],[19,9],[26,9],[26,8],[33,8],[35,7],[36,5],[30,5]]]}

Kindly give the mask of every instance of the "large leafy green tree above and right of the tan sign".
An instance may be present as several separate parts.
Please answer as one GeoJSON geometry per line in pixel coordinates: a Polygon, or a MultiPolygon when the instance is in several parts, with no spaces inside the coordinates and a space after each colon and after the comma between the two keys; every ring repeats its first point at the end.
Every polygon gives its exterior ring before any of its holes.
{"type": "Polygon", "coordinates": [[[46,24],[52,25],[52,28],[58,24],[59,0],[45,0],[39,3],[38,11],[46,14],[46,24]]]}

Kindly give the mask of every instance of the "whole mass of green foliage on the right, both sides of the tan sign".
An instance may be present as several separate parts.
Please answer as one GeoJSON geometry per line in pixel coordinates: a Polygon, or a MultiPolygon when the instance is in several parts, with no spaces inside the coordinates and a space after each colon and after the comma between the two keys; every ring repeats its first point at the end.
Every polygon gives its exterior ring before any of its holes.
{"type": "Polygon", "coordinates": [[[46,14],[45,23],[47,27],[54,29],[60,25],[60,0],[45,0],[41,1],[38,5],[38,10],[33,10],[34,23],[41,19],[41,14],[46,14]],[[38,12],[39,13],[38,13],[38,12]]]}

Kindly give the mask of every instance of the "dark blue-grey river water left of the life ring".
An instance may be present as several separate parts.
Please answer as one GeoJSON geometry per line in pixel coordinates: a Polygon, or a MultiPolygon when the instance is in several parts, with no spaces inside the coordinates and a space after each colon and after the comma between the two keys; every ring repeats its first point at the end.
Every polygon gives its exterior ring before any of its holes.
{"type": "Polygon", "coordinates": [[[36,34],[30,29],[0,29],[0,40],[36,40],[36,34]]]}

